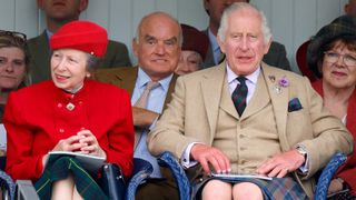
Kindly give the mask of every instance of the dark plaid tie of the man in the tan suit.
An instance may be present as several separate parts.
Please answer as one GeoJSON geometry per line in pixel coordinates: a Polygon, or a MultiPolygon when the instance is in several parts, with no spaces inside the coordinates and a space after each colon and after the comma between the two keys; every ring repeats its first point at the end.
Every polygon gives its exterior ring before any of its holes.
{"type": "Polygon", "coordinates": [[[248,88],[246,86],[246,78],[245,77],[238,77],[236,78],[240,83],[236,86],[231,98],[235,104],[235,108],[238,112],[238,114],[241,117],[243,112],[246,108],[246,98],[247,98],[247,92],[248,88]]]}

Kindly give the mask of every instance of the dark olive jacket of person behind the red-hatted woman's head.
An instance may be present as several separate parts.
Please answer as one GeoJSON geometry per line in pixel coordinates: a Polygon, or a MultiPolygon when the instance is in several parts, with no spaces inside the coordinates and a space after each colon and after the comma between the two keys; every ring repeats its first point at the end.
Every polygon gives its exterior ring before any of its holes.
{"type": "MultiPolygon", "coordinates": [[[[30,53],[30,83],[41,82],[50,79],[50,48],[46,31],[42,34],[28,40],[30,53]]],[[[117,41],[109,40],[107,53],[102,59],[100,68],[112,68],[118,66],[131,66],[127,47],[117,41]]]]}

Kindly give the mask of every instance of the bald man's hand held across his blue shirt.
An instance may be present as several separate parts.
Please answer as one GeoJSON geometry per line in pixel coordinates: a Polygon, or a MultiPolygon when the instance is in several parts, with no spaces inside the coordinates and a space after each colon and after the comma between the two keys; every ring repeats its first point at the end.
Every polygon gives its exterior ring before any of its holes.
{"type": "Polygon", "coordinates": [[[159,114],[144,108],[132,107],[132,116],[135,127],[146,128],[151,126],[159,114]]]}

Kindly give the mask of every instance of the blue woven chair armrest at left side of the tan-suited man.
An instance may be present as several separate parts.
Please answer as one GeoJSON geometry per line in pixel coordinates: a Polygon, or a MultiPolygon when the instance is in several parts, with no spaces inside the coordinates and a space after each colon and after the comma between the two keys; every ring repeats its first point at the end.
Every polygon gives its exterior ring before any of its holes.
{"type": "Polygon", "coordinates": [[[190,182],[185,170],[178,163],[177,159],[168,151],[162,152],[158,158],[158,163],[161,167],[169,168],[178,184],[179,198],[181,200],[190,199],[190,182]]]}

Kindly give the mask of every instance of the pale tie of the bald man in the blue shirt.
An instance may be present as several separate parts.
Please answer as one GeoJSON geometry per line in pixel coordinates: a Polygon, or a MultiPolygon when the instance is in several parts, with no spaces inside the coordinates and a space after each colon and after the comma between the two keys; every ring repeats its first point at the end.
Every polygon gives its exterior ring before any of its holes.
{"type": "MultiPolygon", "coordinates": [[[[136,101],[135,107],[138,108],[146,108],[147,107],[147,102],[148,102],[148,97],[149,97],[149,92],[157,88],[159,86],[159,82],[155,82],[155,81],[149,81],[146,84],[146,88],[144,90],[144,92],[141,93],[141,97],[136,101]]],[[[141,133],[142,133],[142,129],[139,128],[135,128],[135,143],[134,143],[134,149],[136,149],[140,138],[141,138],[141,133]]]]}

